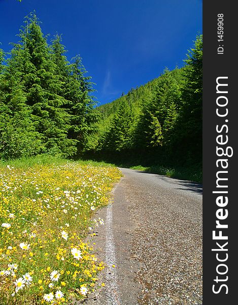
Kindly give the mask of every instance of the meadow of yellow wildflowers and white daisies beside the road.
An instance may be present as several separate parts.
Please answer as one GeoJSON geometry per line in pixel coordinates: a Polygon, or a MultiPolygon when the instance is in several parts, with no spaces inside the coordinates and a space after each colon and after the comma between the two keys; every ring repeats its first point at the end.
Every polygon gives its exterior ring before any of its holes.
{"type": "Polygon", "coordinates": [[[93,214],[120,176],[70,161],[0,167],[2,304],[72,304],[98,288],[93,214]]]}

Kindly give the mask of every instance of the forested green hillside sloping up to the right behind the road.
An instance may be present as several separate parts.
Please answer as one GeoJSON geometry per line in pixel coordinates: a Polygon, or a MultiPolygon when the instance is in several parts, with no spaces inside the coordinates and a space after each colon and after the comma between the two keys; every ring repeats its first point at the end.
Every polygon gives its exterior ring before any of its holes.
{"type": "Polygon", "coordinates": [[[101,105],[92,156],[117,164],[193,167],[201,172],[202,36],[185,66],[101,105]]]}

